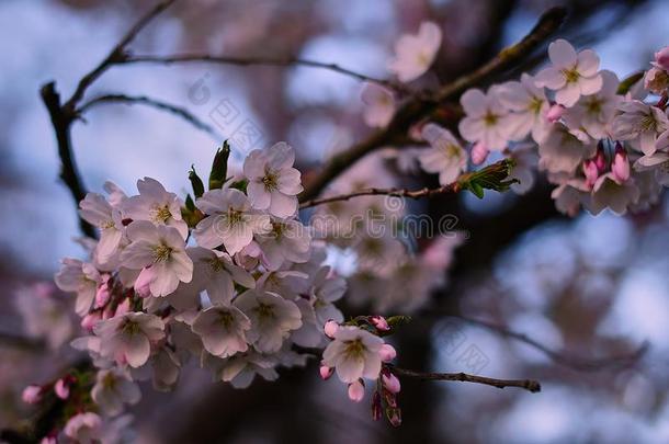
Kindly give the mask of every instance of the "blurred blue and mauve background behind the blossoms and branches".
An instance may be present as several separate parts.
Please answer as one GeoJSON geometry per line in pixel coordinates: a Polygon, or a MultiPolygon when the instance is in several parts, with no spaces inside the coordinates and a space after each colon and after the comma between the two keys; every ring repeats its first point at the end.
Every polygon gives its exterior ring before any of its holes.
{"type": "MultiPolygon", "coordinates": [[[[52,278],[60,258],[83,255],[72,240],[79,236],[75,204],[57,180],[39,87],[55,80],[69,96],[150,4],[0,1],[0,426],[26,414],[18,401],[26,384],[53,377],[72,355],[65,341],[72,332],[49,329],[45,320],[68,316],[60,306],[66,297],[49,297],[42,311],[24,303],[35,293],[50,294],[35,284],[52,278]],[[52,352],[22,340],[39,329],[53,340],[52,352]]],[[[421,82],[434,87],[488,60],[555,4],[571,11],[559,34],[594,47],[602,68],[621,78],[645,69],[653,52],[669,44],[665,0],[191,0],[163,13],[132,48],[298,55],[385,78],[395,39],[431,20],[442,26],[444,41],[421,82]]],[[[522,68],[541,65],[544,49],[522,68]]],[[[105,105],[75,125],[75,153],[90,191],[101,192],[105,180],[134,191],[136,180],[149,175],[185,195],[189,167],[208,171],[223,138],[247,130],[252,144],[247,137],[234,145],[238,166],[249,149],[286,140],[308,175],[370,130],[361,119],[360,91],[355,80],[310,68],[117,67],[89,93],[147,94],[179,104],[214,134],[154,109],[105,105]]],[[[434,184],[434,178],[411,181],[434,184]]],[[[402,367],[535,378],[541,394],[407,382],[404,424],[394,430],[373,422],[365,402],[349,402],[341,384],[321,382],[315,362],[247,390],[212,385],[207,374],[189,369],[174,394],[145,387],[132,409],[137,442],[669,442],[667,205],[624,218],[567,219],[549,193],[538,180],[523,196],[427,203],[422,210],[433,217],[456,215],[457,229],[468,236],[455,251],[449,286],[433,295],[433,309],[397,338],[402,367]],[[552,358],[463,318],[506,326],[559,355],[552,358]],[[610,358],[633,355],[646,343],[636,358],[610,358]]]]}

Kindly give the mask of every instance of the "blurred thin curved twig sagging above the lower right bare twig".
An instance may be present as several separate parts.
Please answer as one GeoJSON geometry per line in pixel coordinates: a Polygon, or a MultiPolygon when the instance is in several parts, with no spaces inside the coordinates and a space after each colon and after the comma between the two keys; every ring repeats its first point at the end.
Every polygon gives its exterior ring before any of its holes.
{"type": "Polygon", "coordinates": [[[603,368],[627,366],[630,364],[637,362],[648,351],[648,348],[649,348],[648,342],[644,342],[637,350],[635,350],[632,353],[621,354],[619,356],[606,356],[606,357],[601,357],[601,358],[597,358],[597,360],[588,360],[588,358],[583,358],[583,357],[579,357],[579,356],[574,356],[566,352],[559,352],[559,351],[553,350],[553,349],[548,348],[547,345],[542,344],[541,342],[536,341],[535,339],[530,338],[529,335],[526,335],[524,333],[519,333],[519,332],[513,331],[503,326],[499,326],[499,325],[488,322],[485,320],[473,319],[473,318],[468,318],[468,317],[460,316],[460,315],[446,315],[446,316],[461,319],[461,320],[472,323],[474,326],[479,326],[479,327],[486,328],[488,330],[495,331],[503,337],[511,338],[517,341],[523,342],[523,343],[541,351],[542,353],[544,353],[546,356],[548,356],[554,362],[556,362],[560,365],[564,365],[566,367],[570,367],[570,368],[580,371],[580,372],[598,372],[603,368]]]}

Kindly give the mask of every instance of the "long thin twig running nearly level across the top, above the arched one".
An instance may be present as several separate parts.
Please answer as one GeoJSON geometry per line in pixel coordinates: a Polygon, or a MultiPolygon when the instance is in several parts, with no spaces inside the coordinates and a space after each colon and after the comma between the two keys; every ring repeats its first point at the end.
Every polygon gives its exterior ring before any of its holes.
{"type": "Polygon", "coordinates": [[[307,68],[327,69],[338,72],[343,76],[352,77],[358,80],[377,83],[388,89],[411,93],[411,90],[402,83],[387,79],[378,79],[372,76],[363,75],[348,68],[343,68],[337,64],[326,61],[311,60],[299,57],[235,57],[235,56],[213,56],[211,54],[175,54],[170,56],[148,56],[148,55],[129,55],[117,61],[120,65],[127,64],[188,64],[188,62],[208,62],[220,65],[237,65],[237,66],[302,66],[307,68]]]}

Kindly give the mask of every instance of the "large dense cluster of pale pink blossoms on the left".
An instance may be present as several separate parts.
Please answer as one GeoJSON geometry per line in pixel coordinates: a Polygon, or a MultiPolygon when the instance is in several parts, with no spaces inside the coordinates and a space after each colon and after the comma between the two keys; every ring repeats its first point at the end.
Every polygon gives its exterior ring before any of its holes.
{"type": "MultiPolygon", "coordinates": [[[[227,168],[227,150],[214,170],[227,168]]],[[[84,441],[99,431],[99,415],[136,403],[137,380],[152,376],[157,389],[171,389],[190,357],[215,379],[246,387],[256,375],[275,379],[277,366],[304,365],[293,345],[327,343],[322,326],[343,320],[333,303],[345,281],[324,265],[322,246],[296,217],[294,161],[284,143],[252,151],[240,177],[209,181],[206,192],[193,171],[195,200],[150,178],[137,182],[137,195],[107,183],[106,197],[86,196],[80,214],[100,240],[88,243],[88,261],[65,259],[56,283],[77,295],[89,335],[72,345],[99,371],[90,397],[60,384],[58,396],[83,412],[66,434],[84,441]]],[[[42,391],[26,389],[24,398],[36,402],[42,391]]]]}

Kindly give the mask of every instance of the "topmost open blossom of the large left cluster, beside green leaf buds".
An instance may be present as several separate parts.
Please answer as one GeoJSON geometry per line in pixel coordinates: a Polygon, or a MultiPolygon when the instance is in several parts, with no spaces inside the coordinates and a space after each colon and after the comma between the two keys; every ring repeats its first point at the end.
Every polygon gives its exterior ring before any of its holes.
{"type": "Polygon", "coordinates": [[[247,193],[253,208],[267,209],[276,217],[295,214],[296,195],[303,187],[293,163],[295,150],[285,141],[249,153],[243,161],[243,174],[249,180],[247,193]]]}

